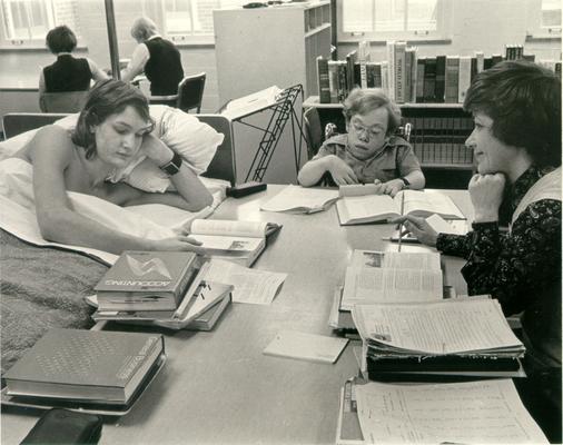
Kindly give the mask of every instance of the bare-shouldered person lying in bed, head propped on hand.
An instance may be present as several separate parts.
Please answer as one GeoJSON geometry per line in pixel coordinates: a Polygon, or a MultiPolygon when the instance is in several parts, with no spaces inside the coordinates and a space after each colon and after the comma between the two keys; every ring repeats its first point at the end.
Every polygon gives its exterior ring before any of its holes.
{"type": "Polygon", "coordinates": [[[89,92],[72,131],[41,128],[16,158],[33,167],[33,194],[41,235],[47,240],[120,254],[122,250],[194,250],[185,235],[162,240],[129,236],[73,210],[67,190],[93,195],[119,206],[166,204],[197,211],[213,201],[209,191],[179,155],[150,135],[146,97],[120,80],[102,80],[89,92]],[[146,192],[106,179],[142,150],[169,175],[178,192],[146,192]]]}

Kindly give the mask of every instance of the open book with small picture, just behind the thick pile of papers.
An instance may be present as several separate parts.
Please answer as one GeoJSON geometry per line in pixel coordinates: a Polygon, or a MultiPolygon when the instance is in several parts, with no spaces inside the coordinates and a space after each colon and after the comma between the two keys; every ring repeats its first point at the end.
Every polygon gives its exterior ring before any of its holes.
{"type": "Polygon", "coordinates": [[[354,250],[346,269],[342,310],[364,303],[433,301],[443,298],[437,253],[354,250]]]}

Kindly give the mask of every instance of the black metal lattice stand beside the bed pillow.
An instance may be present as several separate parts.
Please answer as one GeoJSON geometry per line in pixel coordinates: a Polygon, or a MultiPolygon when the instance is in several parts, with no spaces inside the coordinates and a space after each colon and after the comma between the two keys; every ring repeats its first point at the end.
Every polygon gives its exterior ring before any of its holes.
{"type": "Polygon", "coordinates": [[[249,115],[243,116],[240,118],[234,119],[234,121],[240,122],[248,127],[253,127],[263,132],[263,137],[260,142],[258,144],[258,148],[254,156],[253,162],[250,164],[250,168],[248,169],[248,174],[246,175],[245,182],[249,180],[261,181],[264,179],[264,175],[266,174],[266,169],[271,160],[274,151],[279,141],[279,137],[284,131],[284,128],[287,121],[290,119],[292,121],[292,139],[294,144],[294,156],[295,156],[295,172],[299,171],[299,160],[302,158],[302,148],[303,141],[305,140],[305,134],[303,131],[303,111],[298,117],[295,111],[295,102],[297,98],[300,96],[303,102],[303,86],[295,85],[293,87],[286,88],[283,90],[276,103],[273,103],[269,107],[263,108],[249,115]],[[266,110],[271,110],[271,115],[269,117],[268,125],[266,128],[261,128],[255,126],[253,123],[245,122],[243,119],[248,116],[253,116],[257,112],[263,112],[266,110]],[[297,135],[296,127],[299,131],[297,135]],[[299,142],[297,144],[296,137],[298,136],[299,142]]]}

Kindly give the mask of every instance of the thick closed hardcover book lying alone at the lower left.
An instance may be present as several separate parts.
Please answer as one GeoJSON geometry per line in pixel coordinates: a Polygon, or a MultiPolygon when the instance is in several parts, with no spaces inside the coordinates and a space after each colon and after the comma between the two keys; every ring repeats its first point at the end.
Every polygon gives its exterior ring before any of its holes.
{"type": "Polygon", "coordinates": [[[4,374],[7,393],[126,405],[164,349],[159,334],[50,329],[4,374]]]}

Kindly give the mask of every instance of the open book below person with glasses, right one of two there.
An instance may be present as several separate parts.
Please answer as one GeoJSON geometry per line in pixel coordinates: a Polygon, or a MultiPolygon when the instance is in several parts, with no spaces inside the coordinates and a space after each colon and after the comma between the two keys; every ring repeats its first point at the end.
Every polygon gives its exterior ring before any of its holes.
{"type": "Polygon", "coordinates": [[[452,198],[435,190],[402,190],[394,198],[375,195],[372,185],[342,186],[336,202],[340,225],[387,221],[402,215],[465,219],[452,198]]]}

